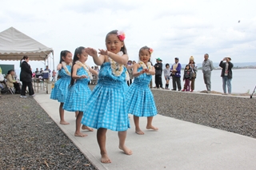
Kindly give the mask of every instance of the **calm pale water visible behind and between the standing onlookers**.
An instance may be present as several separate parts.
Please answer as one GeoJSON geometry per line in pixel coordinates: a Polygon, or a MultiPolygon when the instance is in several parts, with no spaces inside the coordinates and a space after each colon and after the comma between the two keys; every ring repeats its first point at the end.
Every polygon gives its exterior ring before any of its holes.
{"type": "MultiPolygon", "coordinates": [[[[221,69],[213,70],[211,73],[211,90],[223,92],[222,90],[222,77],[221,69]]],[[[256,69],[232,69],[233,78],[231,81],[232,93],[252,93],[256,85],[256,69]]],[[[183,76],[183,70],[182,70],[183,76]]],[[[181,78],[182,80],[182,78],[181,78]]],[[[163,87],[166,85],[166,80],[162,76],[163,87]]],[[[153,77],[154,85],[154,77],[153,77]]],[[[182,81],[183,85],[183,81],[182,81]]],[[[202,70],[198,70],[197,78],[195,80],[194,91],[206,90],[202,77],[202,70]]],[[[183,87],[183,86],[182,86],[183,87]]],[[[172,80],[170,80],[169,88],[172,88],[172,80]]]]}

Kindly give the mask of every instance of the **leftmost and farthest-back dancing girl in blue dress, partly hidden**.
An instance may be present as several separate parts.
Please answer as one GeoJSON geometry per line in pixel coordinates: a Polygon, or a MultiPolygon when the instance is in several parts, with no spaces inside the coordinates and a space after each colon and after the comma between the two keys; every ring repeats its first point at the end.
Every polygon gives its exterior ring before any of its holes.
{"type": "Polygon", "coordinates": [[[59,122],[61,125],[69,125],[70,123],[64,120],[64,109],[63,104],[66,100],[66,96],[68,93],[68,86],[70,85],[70,70],[72,63],[72,53],[67,50],[63,50],[61,52],[60,61],[58,64],[58,79],[54,84],[54,89],[50,93],[50,98],[54,100],[58,100],[61,104],[59,105],[59,116],[61,121],[59,122]]]}

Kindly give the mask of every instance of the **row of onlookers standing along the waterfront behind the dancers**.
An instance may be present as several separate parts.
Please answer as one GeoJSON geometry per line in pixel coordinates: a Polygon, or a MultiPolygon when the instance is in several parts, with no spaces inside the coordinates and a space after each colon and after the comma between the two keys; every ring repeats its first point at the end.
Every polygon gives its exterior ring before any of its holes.
{"type": "MultiPolygon", "coordinates": [[[[231,93],[231,80],[232,80],[232,68],[233,64],[230,62],[230,57],[224,57],[223,60],[220,62],[219,66],[222,68],[222,89],[223,94],[230,94],[231,93]],[[228,93],[226,93],[226,86],[228,89],[228,93]]],[[[130,80],[127,81],[127,84],[130,85],[133,79],[133,70],[132,65],[136,63],[135,61],[128,61],[127,63],[127,71],[130,75],[130,80]]],[[[152,63],[151,63],[152,64],[152,63]]],[[[194,62],[194,57],[191,56],[189,58],[188,64],[184,68],[184,73],[182,75],[182,65],[179,63],[179,58],[174,58],[174,64],[170,66],[170,64],[166,64],[166,68],[163,69],[162,59],[160,57],[156,58],[156,63],[154,64],[155,75],[154,75],[154,82],[156,89],[169,89],[169,83],[172,81],[172,89],[173,91],[186,91],[186,92],[193,92],[194,91],[194,82],[197,77],[198,72],[198,65],[194,62]],[[166,80],[165,88],[163,87],[162,83],[162,73],[166,80]],[[182,85],[181,80],[184,81],[184,85],[182,85]]],[[[203,73],[203,80],[206,84],[206,93],[210,93],[211,90],[211,71],[214,69],[213,62],[209,59],[209,54],[206,53],[204,55],[204,60],[202,61],[202,73],[203,73]]],[[[152,87],[152,81],[150,82],[150,88],[152,87]]]]}

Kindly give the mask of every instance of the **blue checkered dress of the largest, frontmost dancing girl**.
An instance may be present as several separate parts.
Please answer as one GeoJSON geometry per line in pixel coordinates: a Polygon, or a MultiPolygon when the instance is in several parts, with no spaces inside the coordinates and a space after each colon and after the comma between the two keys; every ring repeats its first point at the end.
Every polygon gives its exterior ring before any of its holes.
{"type": "Polygon", "coordinates": [[[126,68],[119,77],[111,71],[110,62],[103,63],[98,74],[98,85],[86,105],[82,124],[92,128],[126,131],[130,121],[126,109],[126,68]]]}

